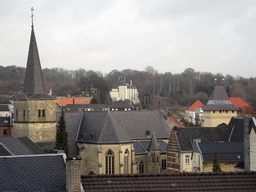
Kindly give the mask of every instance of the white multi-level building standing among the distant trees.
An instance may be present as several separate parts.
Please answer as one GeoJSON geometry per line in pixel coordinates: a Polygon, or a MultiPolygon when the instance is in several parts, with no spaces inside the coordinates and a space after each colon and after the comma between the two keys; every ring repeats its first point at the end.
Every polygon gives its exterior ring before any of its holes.
{"type": "Polygon", "coordinates": [[[132,85],[132,81],[130,82],[130,85],[124,81],[119,82],[115,88],[110,91],[110,96],[113,101],[128,100],[134,104],[140,102],[137,88],[132,85]]]}

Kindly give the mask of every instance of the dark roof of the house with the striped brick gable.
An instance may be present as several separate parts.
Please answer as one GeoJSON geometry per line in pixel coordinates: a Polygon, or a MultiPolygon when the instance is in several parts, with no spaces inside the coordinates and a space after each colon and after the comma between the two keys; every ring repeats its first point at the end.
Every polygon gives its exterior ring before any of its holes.
{"type": "Polygon", "coordinates": [[[201,139],[202,143],[228,141],[231,127],[177,128],[181,151],[192,151],[191,139],[201,139]]]}

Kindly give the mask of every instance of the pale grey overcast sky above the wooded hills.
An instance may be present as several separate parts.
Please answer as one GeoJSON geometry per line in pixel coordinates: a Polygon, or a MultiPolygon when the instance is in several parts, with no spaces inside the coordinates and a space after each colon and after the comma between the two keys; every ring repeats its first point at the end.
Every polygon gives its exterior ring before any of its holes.
{"type": "Polygon", "coordinates": [[[26,67],[31,7],[42,68],[255,77],[255,0],[0,2],[0,65],[26,67]]]}

